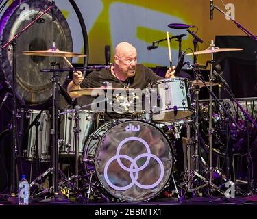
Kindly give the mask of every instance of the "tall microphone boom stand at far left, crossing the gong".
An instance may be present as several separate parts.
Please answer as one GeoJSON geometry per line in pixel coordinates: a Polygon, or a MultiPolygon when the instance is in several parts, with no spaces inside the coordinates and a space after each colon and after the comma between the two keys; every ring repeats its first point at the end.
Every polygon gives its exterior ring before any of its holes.
{"type": "Polygon", "coordinates": [[[18,34],[15,34],[14,37],[6,42],[1,49],[5,49],[10,45],[12,48],[12,95],[13,95],[13,104],[12,104],[12,150],[11,150],[11,196],[15,197],[16,195],[16,183],[15,183],[15,157],[16,157],[16,38],[19,38],[23,32],[27,31],[38,19],[40,19],[44,14],[51,10],[53,6],[49,6],[40,16],[38,16],[34,21],[29,23],[22,31],[18,34]]]}

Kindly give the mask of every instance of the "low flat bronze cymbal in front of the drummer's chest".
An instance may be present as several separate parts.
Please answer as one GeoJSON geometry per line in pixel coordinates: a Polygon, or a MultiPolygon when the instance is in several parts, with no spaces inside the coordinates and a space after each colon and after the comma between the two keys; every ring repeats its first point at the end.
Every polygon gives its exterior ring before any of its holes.
{"type": "Polygon", "coordinates": [[[70,92],[77,96],[91,96],[91,94],[104,94],[104,92],[129,92],[135,90],[134,88],[82,88],[79,90],[71,90],[70,92]]]}

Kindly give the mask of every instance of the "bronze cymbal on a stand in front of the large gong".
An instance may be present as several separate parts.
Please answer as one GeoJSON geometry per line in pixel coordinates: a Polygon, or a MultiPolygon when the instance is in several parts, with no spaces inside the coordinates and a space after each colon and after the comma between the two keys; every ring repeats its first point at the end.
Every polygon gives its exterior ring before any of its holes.
{"type": "Polygon", "coordinates": [[[72,53],[59,50],[34,50],[34,51],[23,51],[23,55],[37,55],[37,56],[56,56],[56,57],[85,57],[86,55],[80,53],[72,53]]]}

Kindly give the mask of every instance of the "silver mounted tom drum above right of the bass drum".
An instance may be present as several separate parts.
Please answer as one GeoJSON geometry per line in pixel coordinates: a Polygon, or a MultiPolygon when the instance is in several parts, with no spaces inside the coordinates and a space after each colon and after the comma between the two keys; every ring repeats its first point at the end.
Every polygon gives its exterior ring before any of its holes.
{"type": "Polygon", "coordinates": [[[169,122],[193,115],[188,80],[185,78],[162,79],[150,85],[152,120],[169,122]]]}

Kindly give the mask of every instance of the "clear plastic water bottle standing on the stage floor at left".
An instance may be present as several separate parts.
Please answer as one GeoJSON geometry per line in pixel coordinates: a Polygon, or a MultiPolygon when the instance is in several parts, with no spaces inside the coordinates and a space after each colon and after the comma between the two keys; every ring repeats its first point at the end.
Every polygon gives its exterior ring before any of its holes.
{"type": "Polygon", "coordinates": [[[29,182],[26,179],[25,175],[22,175],[21,181],[19,181],[19,205],[28,205],[29,204],[29,182]]]}

